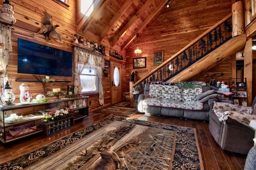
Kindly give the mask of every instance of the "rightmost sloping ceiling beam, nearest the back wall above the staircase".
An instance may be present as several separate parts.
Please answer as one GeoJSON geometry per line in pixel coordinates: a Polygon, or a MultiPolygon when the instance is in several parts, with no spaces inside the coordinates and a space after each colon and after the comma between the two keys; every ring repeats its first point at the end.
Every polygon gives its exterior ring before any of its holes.
{"type": "Polygon", "coordinates": [[[130,42],[132,42],[132,40],[136,37],[136,34],[139,33],[141,30],[143,30],[143,28],[145,28],[147,26],[147,24],[158,14],[158,12],[160,12],[162,10],[162,8],[165,6],[166,2],[168,2],[168,0],[163,0],[158,7],[156,7],[156,9],[154,10],[154,12],[152,12],[148,18],[137,28],[137,30],[130,36],[130,38],[128,38],[128,40],[126,40],[126,42],[121,45],[121,51],[127,47],[129,45],[130,42]]]}

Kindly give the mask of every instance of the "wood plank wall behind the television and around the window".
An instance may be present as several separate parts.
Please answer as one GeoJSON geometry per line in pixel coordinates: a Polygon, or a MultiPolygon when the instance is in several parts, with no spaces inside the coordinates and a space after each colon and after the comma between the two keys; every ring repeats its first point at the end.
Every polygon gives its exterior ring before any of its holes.
{"type": "MultiPolygon", "coordinates": [[[[4,0],[0,0],[0,7],[2,8],[4,0]]],[[[69,7],[63,6],[60,2],[56,0],[11,0],[12,5],[14,6],[15,17],[17,19],[16,24],[13,26],[14,30],[12,30],[12,48],[13,51],[10,52],[9,63],[8,63],[8,74],[12,76],[12,87],[13,93],[16,96],[15,103],[19,102],[20,95],[20,82],[16,82],[16,80],[36,80],[35,77],[31,74],[20,74],[17,73],[17,45],[18,38],[22,38],[25,40],[33,41],[36,43],[49,45],[51,47],[55,47],[58,49],[64,49],[66,51],[73,52],[73,36],[77,34],[76,32],[76,0],[69,1],[69,7]],[[53,24],[58,24],[56,30],[60,32],[62,35],[62,42],[58,40],[48,40],[44,38],[43,35],[35,35],[36,32],[40,30],[42,26],[42,17],[43,11],[47,11],[50,15],[53,16],[53,24]]],[[[78,34],[79,35],[79,34],[78,34]]],[[[83,38],[89,39],[92,42],[98,42],[98,36],[91,34],[90,32],[86,32],[86,35],[79,35],[83,38]]],[[[98,43],[103,46],[106,46],[106,53],[108,55],[110,50],[110,44],[108,40],[103,40],[102,43],[98,43]]],[[[112,47],[112,51],[119,51],[119,47],[112,47]]],[[[126,51],[122,51],[122,55],[125,57],[126,51]]],[[[110,59],[111,57],[106,56],[105,59],[110,59]]],[[[73,56],[74,59],[74,56],[73,56]]],[[[124,63],[124,61],[122,61],[124,63]]],[[[125,64],[124,68],[125,68],[125,64]]],[[[73,63],[74,70],[74,63],[73,63]]],[[[104,69],[103,69],[104,70],[104,69]]],[[[108,72],[109,69],[108,69],[108,72]]],[[[125,73],[125,69],[124,69],[125,73]]],[[[38,78],[39,75],[36,75],[38,78]]],[[[110,75],[108,75],[110,76],[110,75]]],[[[44,77],[44,75],[43,75],[44,77]]],[[[124,76],[123,76],[124,77],[124,76]]],[[[42,77],[41,77],[42,78],[42,77]]],[[[41,79],[40,78],[40,79],[41,79]]],[[[61,77],[61,76],[52,76],[51,78],[56,81],[71,81],[71,83],[45,83],[45,91],[52,91],[53,88],[60,88],[63,91],[66,91],[67,85],[74,84],[74,76],[73,77],[61,77]]],[[[103,85],[104,85],[104,103],[105,105],[110,104],[110,83],[106,81],[109,77],[103,77],[103,85]]],[[[32,93],[32,98],[36,98],[36,95],[39,93],[43,94],[43,86],[41,83],[25,83],[30,87],[30,92],[32,93]]],[[[123,87],[125,87],[125,83],[123,87]]],[[[89,109],[95,109],[100,107],[98,103],[98,95],[89,95],[90,106],[89,109]]],[[[48,96],[46,96],[48,97],[48,96]]]]}

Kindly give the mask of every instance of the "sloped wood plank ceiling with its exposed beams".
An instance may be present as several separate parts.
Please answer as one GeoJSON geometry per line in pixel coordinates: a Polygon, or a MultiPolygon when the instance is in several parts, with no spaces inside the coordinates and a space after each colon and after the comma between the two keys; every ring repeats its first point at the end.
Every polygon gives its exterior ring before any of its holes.
{"type": "Polygon", "coordinates": [[[111,47],[120,46],[122,51],[137,40],[147,27],[166,8],[170,0],[99,0],[87,18],[80,13],[77,1],[77,30],[98,36],[98,41],[108,40],[111,47]]]}

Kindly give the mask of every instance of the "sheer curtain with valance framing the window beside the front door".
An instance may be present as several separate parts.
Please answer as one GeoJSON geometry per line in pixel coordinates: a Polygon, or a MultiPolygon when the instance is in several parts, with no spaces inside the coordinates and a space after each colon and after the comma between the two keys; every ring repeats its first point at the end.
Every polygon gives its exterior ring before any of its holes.
{"type": "Polygon", "coordinates": [[[102,86],[102,67],[104,67],[104,55],[93,51],[74,47],[75,80],[74,85],[80,86],[80,75],[86,65],[93,65],[96,68],[99,80],[99,103],[104,105],[103,86],[102,86]]]}

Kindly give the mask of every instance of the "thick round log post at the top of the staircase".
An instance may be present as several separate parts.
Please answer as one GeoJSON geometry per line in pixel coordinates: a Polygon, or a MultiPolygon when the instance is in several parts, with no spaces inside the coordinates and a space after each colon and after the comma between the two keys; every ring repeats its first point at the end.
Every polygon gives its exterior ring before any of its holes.
{"type": "Polygon", "coordinates": [[[244,6],[243,1],[232,4],[232,36],[244,34],[244,6]]]}

